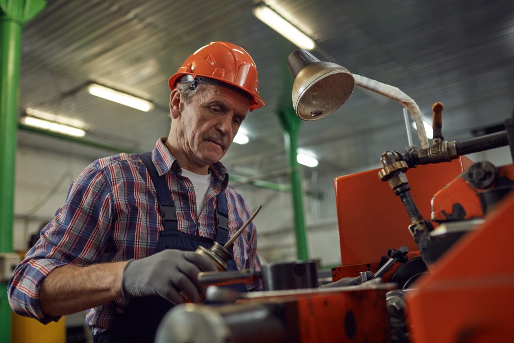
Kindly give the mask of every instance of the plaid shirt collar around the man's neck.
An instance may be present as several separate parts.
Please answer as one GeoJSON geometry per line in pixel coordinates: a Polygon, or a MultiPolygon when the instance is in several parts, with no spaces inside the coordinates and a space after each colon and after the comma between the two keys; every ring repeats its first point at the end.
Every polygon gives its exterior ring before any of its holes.
{"type": "MultiPolygon", "coordinates": [[[[155,148],[152,151],[152,160],[159,176],[162,176],[168,172],[173,174],[182,174],[182,168],[180,167],[177,159],[171,154],[171,151],[166,147],[166,137],[161,137],[155,143],[155,148]]],[[[222,185],[222,189],[225,189],[228,185],[228,172],[227,168],[221,163],[217,162],[209,166],[213,179],[217,184],[222,185]]]]}

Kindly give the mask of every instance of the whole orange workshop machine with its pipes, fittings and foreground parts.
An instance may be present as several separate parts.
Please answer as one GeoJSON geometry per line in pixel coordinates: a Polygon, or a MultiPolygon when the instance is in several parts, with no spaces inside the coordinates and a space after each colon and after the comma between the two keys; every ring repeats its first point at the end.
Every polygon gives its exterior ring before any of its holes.
{"type": "MultiPolygon", "coordinates": [[[[511,341],[514,165],[463,155],[509,145],[514,156],[514,118],[503,132],[445,141],[440,110],[433,145],[387,151],[381,170],[336,179],[342,265],[332,277],[351,279],[249,294],[209,287],[207,299],[223,305],[176,306],[157,342],[511,341]]],[[[299,266],[276,276],[312,274],[299,266]]],[[[266,268],[213,276],[279,284],[265,280],[266,268]]]]}

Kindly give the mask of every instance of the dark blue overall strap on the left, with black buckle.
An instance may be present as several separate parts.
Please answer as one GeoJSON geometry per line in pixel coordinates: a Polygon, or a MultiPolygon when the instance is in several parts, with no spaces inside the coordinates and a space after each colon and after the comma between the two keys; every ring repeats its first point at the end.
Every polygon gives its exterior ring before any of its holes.
{"type": "Polygon", "coordinates": [[[139,157],[146,166],[146,170],[148,170],[152,183],[154,184],[159,210],[164,221],[164,228],[166,230],[178,230],[177,210],[173,198],[171,197],[171,191],[168,187],[166,176],[159,176],[157,173],[157,168],[155,168],[154,162],[152,161],[151,151],[141,153],[139,157]]]}

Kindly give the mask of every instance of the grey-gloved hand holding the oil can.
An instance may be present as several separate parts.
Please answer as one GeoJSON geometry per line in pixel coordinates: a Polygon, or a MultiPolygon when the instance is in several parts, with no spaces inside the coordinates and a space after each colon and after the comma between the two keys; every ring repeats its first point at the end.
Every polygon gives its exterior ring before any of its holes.
{"type": "Polygon", "coordinates": [[[121,294],[124,297],[158,295],[175,304],[198,302],[202,292],[198,273],[215,272],[212,262],[192,251],[166,249],[140,260],[130,260],[123,270],[121,294]]]}

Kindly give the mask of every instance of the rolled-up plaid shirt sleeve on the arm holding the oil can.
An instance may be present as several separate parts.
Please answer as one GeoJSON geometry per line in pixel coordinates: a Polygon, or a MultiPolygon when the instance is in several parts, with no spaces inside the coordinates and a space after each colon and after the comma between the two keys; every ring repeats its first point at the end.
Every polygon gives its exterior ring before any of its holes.
{"type": "Polygon", "coordinates": [[[57,267],[99,262],[111,227],[111,201],[102,170],[89,165],[71,184],[64,205],[14,270],[8,296],[15,313],[42,323],[59,320],[41,310],[40,286],[57,267]]]}

